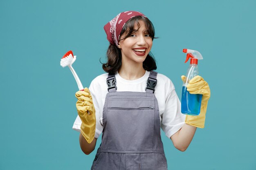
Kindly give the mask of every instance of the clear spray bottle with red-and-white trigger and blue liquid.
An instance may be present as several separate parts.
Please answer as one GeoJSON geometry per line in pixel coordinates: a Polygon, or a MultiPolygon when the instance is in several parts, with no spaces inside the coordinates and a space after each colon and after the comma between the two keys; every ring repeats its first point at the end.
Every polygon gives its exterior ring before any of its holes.
{"type": "Polygon", "coordinates": [[[187,53],[185,63],[190,59],[190,66],[186,74],[186,79],[182,85],[182,97],[181,97],[181,113],[185,115],[199,115],[202,95],[190,94],[186,90],[186,85],[189,84],[189,80],[198,75],[198,60],[202,60],[202,55],[195,50],[183,49],[183,53],[187,53]]]}

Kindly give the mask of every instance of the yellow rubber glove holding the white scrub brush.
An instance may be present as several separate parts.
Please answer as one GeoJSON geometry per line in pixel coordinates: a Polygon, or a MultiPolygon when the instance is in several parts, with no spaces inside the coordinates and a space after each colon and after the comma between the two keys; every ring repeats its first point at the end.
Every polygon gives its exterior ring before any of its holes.
{"type": "Polygon", "coordinates": [[[90,144],[94,139],[96,127],[95,108],[92,102],[92,96],[89,89],[86,87],[84,91],[76,92],[76,98],[78,99],[76,109],[82,121],[81,133],[90,144]]]}

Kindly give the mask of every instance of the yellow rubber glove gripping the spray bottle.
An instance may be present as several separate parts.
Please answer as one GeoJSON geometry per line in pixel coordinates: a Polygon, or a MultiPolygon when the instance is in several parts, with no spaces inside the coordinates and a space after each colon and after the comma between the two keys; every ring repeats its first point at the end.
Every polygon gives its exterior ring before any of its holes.
{"type": "MultiPolygon", "coordinates": [[[[182,81],[186,79],[186,76],[181,76],[182,81]]],[[[198,128],[204,128],[205,114],[207,110],[208,100],[211,96],[211,91],[208,83],[204,81],[203,77],[197,75],[189,81],[186,86],[186,90],[190,94],[202,94],[202,102],[200,108],[200,114],[198,116],[186,115],[185,123],[198,128]]]]}

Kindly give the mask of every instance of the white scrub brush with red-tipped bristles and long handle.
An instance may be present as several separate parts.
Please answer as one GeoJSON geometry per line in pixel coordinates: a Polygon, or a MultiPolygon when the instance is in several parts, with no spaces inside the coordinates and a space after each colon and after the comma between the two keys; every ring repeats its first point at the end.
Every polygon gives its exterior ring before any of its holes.
{"type": "Polygon", "coordinates": [[[72,72],[72,74],[74,75],[75,79],[76,79],[76,83],[77,86],[79,88],[79,90],[83,91],[83,85],[79,79],[79,77],[77,76],[74,68],[72,67],[72,64],[76,61],[76,55],[73,55],[73,52],[67,51],[67,53],[61,58],[61,66],[64,68],[65,66],[68,66],[72,72]]]}

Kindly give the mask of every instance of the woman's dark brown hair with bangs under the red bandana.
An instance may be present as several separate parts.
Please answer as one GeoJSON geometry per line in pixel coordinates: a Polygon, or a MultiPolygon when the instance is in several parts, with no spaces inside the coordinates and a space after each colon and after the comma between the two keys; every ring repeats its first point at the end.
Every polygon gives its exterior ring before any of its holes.
{"type": "MultiPolygon", "coordinates": [[[[140,28],[139,21],[144,22],[148,34],[150,35],[152,40],[154,40],[155,29],[152,22],[148,20],[148,18],[145,18],[143,16],[136,16],[126,22],[126,24],[124,25],[121,31],[120,37],[124,33],[126,33],[126,36],[123,39],[119,39],[119,41],[128,38],[130,35],[132,35],[132,33],[137,31],[140,28]],[[138,29],[134,29],[134,24],[137,24],[138,29]]],[[[109,44],[107,57],[108,57],[108,62],[102,63],[102,68],[107,73],[115,73],[120,68],[122,63],[121,49],[119,49],[116,45],[109,44]]],[[[157,69],[155,58],[153,57],[151,52],[148,53],[146,59],[144,60],[143,68],[146,71],[152,71],[157,69]]]]}

